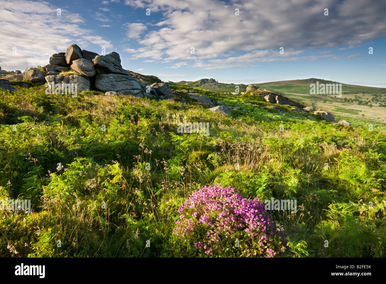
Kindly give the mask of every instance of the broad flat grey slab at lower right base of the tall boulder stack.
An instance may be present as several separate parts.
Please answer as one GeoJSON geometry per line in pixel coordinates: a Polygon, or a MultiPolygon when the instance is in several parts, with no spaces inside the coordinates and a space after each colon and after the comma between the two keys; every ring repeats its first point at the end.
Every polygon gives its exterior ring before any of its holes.
{"type": "Polygon", "coordinates": [[[124,74],[99,74],[95,78],[95,88],[102,92],[114,91],[122,95],[135,95],[141,86],[133,77],[124,74]]]}

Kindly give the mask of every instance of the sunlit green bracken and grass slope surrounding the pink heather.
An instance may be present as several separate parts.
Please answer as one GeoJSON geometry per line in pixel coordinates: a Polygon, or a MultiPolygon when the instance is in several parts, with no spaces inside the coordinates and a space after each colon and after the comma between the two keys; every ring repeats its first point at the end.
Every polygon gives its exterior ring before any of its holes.
{"type": "Polygon", "coordinates": [[[249,200],[297,201],[296,213],[269,211],[288,240],[269,237],[285,247],[283,257],[385,256],[385,124],[362,118],[342,127],[285,106],[279,113],[249,94],[195,91],[240,109],[213,113],[185,94],[151,100],[0,90],[0,195],[32,204],[30,214],[0,211],[0,256],[269,254],[267,243],[236,227],[229,238],[227,228],[218,233],[211,254],[199,244],[211,230],[203,224],[190,236],[175,233],[201,208],[180,216],[181,202],[216,184],[249,200]],[[210,123],[210,135],[178,133],[184,119],[210,123]]]}

